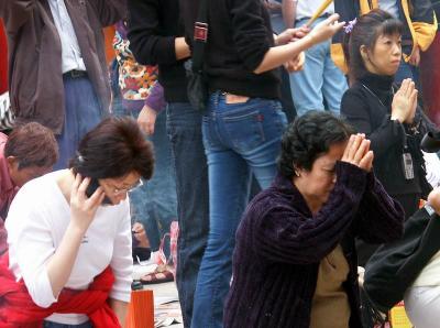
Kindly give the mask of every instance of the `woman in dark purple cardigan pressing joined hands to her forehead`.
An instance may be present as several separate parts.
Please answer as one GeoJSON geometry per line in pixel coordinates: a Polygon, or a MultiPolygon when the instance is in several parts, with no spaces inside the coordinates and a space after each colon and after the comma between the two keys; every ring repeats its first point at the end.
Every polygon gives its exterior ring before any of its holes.
{"type": "Polygon", "coordinates": [[[403,210],[372,172],[363,134],[328,112],[283,135],[278,175],[235,237],[224,327],[362,327],[354,237],[397,239],[403,210]]]}

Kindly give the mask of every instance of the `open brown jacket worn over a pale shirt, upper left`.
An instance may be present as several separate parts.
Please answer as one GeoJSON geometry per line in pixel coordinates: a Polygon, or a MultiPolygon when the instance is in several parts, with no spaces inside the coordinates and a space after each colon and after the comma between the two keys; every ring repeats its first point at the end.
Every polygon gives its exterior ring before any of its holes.
{"type": "MultiPolygon", "coordinates": [[[[65,0],[89,79],[105,112],[110,106],[102,28],[125,13],[125,0],[65,0]]],[[[9,89],[18,123],[55,133],[64,123],[62,45],[47,0],[1,0],[9,42],[9,89]]]]}

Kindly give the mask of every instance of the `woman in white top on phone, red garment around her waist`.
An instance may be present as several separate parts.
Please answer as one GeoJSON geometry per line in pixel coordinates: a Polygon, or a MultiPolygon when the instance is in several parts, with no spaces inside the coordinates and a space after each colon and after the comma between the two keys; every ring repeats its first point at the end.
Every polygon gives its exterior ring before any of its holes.
{"type": "Polygon", "coordinates": [[[8,313],[0,324],[124,324],[132,282],[128,193],[151,178],[153,165],[138,123],[111,118],[82,138],[70,170],[19,192],[7,220],[11,271],[3,259],[0,285],[21,298],[0,303],[8,313]]]}

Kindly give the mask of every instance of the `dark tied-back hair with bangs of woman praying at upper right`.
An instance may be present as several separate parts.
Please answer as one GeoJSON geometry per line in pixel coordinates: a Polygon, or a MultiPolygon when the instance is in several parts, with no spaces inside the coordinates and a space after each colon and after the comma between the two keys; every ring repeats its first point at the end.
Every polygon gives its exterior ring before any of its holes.
{"type": "Polygon", "coordinates": [[[343,52],[349,66],[350,80],[355,81],[367,73],[361,55],[362,45],[373,51],[381,35],[402,35],[403,30],[403,23],[384,10],[373,9],[361,15],[353,30],[346,33],[343,40],[343,52]]]}

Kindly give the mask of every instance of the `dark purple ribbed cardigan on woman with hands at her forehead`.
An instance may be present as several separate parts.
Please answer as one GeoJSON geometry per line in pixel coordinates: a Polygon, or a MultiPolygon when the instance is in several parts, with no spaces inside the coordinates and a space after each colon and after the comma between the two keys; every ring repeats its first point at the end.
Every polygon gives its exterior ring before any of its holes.
{"type": "Polygon", "coordinates": [[[404,211],[373,173],[344,162],[336,170],[334,188],[315,216],[282,175],[248,206],[235,237],[226,328],[309,327],[319,263],[338,244],[350,264],[343,284],[350,327],[362,327],[353,238],[374,243],[400,238],[404,211]]]}

